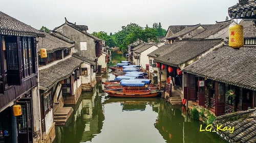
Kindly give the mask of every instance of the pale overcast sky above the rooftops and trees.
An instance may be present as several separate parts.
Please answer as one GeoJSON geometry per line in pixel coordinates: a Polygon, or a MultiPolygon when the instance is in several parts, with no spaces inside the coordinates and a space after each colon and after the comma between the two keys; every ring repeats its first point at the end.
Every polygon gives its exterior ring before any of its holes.
{"type": "Polygon", "coordinates": [[[169,25],[214,24],[225,21],[228,8],[238,0],[6,0],[0,11],[36,29],[42,25],[53,30],[65,22],[88,25],[89,33],[114,34],[122,26],[136,23],[150,27],[161,22],[169,25]]]}

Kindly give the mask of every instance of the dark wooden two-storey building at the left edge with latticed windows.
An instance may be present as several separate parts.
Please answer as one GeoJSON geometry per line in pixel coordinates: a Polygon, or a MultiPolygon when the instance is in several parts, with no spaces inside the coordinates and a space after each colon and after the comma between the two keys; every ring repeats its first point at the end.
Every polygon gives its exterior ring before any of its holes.
{"type": "Polygon", "coordinates": [[[0,142],[41,141],[36,39],[44,36],[0,12],[0,142]]]}

